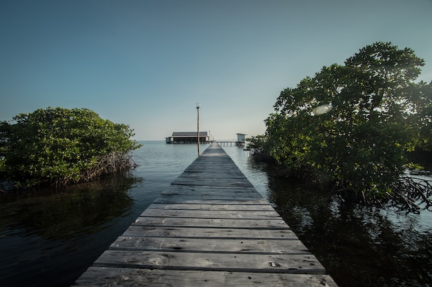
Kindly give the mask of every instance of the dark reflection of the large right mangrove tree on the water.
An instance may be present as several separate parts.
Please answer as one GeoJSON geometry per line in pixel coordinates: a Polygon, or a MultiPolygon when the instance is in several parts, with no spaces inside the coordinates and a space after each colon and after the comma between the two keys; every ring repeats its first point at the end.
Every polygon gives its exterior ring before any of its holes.
{"type": "Polygon", "coordinates": [[[432,232],[420,215],[343,206],[292,180],[268,184],[268,200],[340,286],[432,284],[432,232]]]}

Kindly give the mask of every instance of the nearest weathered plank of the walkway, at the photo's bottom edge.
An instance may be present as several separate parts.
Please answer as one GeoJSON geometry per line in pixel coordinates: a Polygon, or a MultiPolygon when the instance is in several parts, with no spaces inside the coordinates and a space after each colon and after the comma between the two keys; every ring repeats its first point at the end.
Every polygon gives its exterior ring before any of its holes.
{"type": "Polygon", "coordinates": [[[320,286],[337,287],[329,275],[246,273],[199,270],[148,270],[90,267],[75,286],[320,286]]]}

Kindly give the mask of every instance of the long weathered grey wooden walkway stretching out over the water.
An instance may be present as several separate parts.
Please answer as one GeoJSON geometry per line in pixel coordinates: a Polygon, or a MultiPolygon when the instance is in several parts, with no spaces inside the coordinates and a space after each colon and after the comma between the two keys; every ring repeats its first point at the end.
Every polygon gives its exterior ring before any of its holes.
{"type": "Polygon", "coordinates": [[[337,285],[212,143],[75,286],[337,285]]]}

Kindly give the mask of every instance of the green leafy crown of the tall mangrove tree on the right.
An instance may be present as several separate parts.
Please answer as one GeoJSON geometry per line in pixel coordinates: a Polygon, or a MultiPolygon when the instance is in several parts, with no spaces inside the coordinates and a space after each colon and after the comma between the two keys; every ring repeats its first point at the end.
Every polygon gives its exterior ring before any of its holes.
{"type": "Polygon", "coordinates": [[[330,175],[363,199],[391,195],[420,127],[423,141],[431,139],[431,85],[413,82],[423,65],[413,50],[378,42],[344,65],[324,66],[280,93],[265,121],[268,153],[288,170],[330,175]],[[314,115],[324,104],[333,110],[314,115]]]}

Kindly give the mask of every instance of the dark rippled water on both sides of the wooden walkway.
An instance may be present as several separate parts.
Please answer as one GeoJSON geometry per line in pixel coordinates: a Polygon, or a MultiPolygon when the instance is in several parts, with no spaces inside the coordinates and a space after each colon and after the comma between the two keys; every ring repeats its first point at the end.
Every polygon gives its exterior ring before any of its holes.
{"type": "MultiPolygon", "coordinates": [[[[70,286],[197,157],[194,145],[143,143],[128,175],[0,197],[0,286],[70,286]]],[[[432,286],[432,212],[343,208],[223,148],[339,286],[432,286]]]]}

